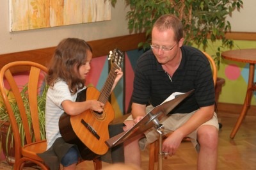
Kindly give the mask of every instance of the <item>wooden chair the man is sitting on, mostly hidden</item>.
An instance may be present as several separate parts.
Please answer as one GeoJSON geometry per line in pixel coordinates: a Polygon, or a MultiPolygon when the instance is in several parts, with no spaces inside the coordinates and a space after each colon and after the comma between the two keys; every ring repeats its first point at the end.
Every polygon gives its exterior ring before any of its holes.
{"type": "MultiPolygon", "coordinates": [[[[217,67],[216,64],[214,62],[214,60],[212,59],[212,57],[207,54],[206,52],[203,52],[204,55],[206,56],[206,58],[209,60],[210,64],[211,64],[211,68],[212,68],[212,78],[213,78],[213,82],[214,82],[214,86],[216,85],[216,81],[217,81],[217,67]]],[[[166,137],[168,137],[168,135],[172,134],[172,132],[166,134],[163,136],[163,139],[166,139],[166,137]]],[[[188,138],[184,139],[189,140],[188,138]]],[[[151,143],[149,146],[149,161],[148,161],[148,170],[154,170],[154,164],[155,162],[158,162],[158,154],[159,154],[159,140],[155,141],[154,143],[151,143]]]]}

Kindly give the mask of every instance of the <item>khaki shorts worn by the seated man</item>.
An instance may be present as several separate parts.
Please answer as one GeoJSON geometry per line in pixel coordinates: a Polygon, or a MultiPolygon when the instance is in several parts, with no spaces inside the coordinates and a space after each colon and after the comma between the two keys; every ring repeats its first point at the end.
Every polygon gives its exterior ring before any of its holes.
{"type": "MultiPolygon", "coordinates": [[[[146,112],[149,112],[152,108],[153,108],[152,105],[148,105],[146,112]]],[[[159,122],[164,125],[163,134],[168,134],[169,132],[173,132],[177,128],[181,127],[184,123],[186,123],[186,121],[189,120],[189,118],[191,116],[193,116],[194,113],[195,113],[195,111],[188,113],[188,114],[175,113],[170,116],[165,116],[164,118],[162,118],[161,121],[159,121],[159,122]]],[[[132,120],[132,116],[129,116],[126,120],[132,120]]],[[[214,116],[212,117],[211,120],[205,122],[202,125],[212,125],[212,126],[216,127],[217,129],[219,129],[219,123],[218,123],[218,118],[217,118],[216,112],[214,112],[214,116]]],[[[196,148],[196,151],[199,151],[200,147],[197,142],[196,133],[197,133],[197,129],[195,131],[191,132],[191,134],[188,134],[187,137],[189,137],[191,139],[191,143],[196,148]]],[[[141,150],[145,150],[147,144],[154,143],[154,141],[156,141],[159,138],[159,134],[156,131],[156,128],[150,128],[150,130],[147,130],[147,132],[145,132],[144,134],[145,134],[145,137],[143,137],[139,141],[141,150]]]]}

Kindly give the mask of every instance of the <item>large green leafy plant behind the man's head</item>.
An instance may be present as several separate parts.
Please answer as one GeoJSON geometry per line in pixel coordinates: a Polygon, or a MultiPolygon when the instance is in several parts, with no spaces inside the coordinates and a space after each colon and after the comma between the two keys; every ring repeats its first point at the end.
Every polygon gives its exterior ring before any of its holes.
{"type": "MultiPolygon", "coordinates": [[[[166,13],[173,13],[184,26],[184,44],[207,49],[209,45],[221,40],[221,46],[216,47],[216,54],[212,58],[216,66],[220,66],[221,49],[234,46],[233,40],[228,40],[225,33],[231,30],[231,25],[226,17],[234,10],[243,6],[241,0],[125,0],[131,10],[127,12],[128,28],[134,33],[146,35],[146,42],[141,42],[138,47],[148,49],[151,42],[152,26],[156,19],[166,13]],[[209,43],[211,42],[211,43],[209,43]]],[[[115,6],[116,0],[111,0],[115,6]]]]}

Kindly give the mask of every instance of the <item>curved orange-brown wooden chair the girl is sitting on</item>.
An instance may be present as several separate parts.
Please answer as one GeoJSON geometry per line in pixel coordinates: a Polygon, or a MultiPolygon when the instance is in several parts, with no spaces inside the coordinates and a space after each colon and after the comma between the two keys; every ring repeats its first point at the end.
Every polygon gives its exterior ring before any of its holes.
{"type": "MultiPolygon", "coordinates": [[[[13,63],[8,63],[3,66],[0,71],[0,91],[3,97],[3,102],[8,111],[8,115],[10,117],[10,125],[12,126],[12,132],[14,137],[15,144],[15,162],[13,169],[22,169],[22,167],[28,165],[27,163],[36,164],[40,166],[41,169],[49,169],[45,166],[44,162],[36,153],[42,153],[46,150],[46,141],[42,140],[40,137],[40,125],[38,122],[38,107],[37,107],[37,97],[38,97],[38,89],[40,86],[38,85],[39,77],[42,73],[47,73],[47,68],[38,63],[33,63],[30,61],[15,61],[13,63]],[[31,126],[29,125],[28,115],[26,114],[26,109],[24,107],[24,103],[22,102],[22,97],[20,95],[19,86],[17,82],[13,78],[13,73],[26,71],[29,73],[29,81],[28,81],[28,97],[29,97],[29,109],[31,114],[31,126]],[[20,115],[22,117],[22,123],[24,127],[24,135],[26,139],[24,141],[24,146],[21,143],[21,135],[19,133],[19,127],[15,120],[15,116],[13,114],[13,109],[10,104],[10,100],[8,100],[8,94],[6,90],[4,90],[4,80],[8,82],[10,85],[10,89],[12,89],[12,93],[17,101],[20,115]],[[34,140],[35,139],[35,140],[34,140]]],[[[100,160],[93,160],[95,169],[101,169],[102,164],[100,160]]]]}

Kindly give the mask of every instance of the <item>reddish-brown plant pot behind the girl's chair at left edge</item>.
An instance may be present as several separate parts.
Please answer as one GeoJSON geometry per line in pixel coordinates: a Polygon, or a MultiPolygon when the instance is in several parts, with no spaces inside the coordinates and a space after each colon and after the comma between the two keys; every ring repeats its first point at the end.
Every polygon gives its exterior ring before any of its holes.
{"type": "MultiPolygon", "coordinates": [[[[0,122],[0,124],[2,124],[0,122]]],[[[3,125],[0,127],[0,139],[2,144],[3,153],[6,158],[6,162],[8,162],[9,165],[14,164],[14,157],[15,157],[15,148],[14,148],[14,141],[13,144],[11,143],[12,137],[9,135],[8,143],[6,143],[6,138],[8,135],[8,128],[10,127],[9,122],[4,122],[3,125]]]]}

